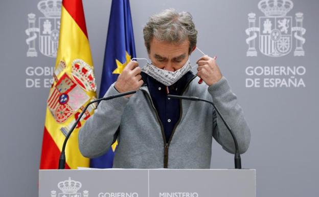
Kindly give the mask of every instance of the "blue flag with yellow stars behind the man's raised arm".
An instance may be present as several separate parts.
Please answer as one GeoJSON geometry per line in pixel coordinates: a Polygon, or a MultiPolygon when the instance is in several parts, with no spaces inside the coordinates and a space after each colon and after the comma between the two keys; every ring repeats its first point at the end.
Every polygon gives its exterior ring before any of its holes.
{"type": "MultiPolygon", "coordinates": [[[[104,96],[133,57],[136,54],[129,0],[112,0],[99,98],[104,96]]],[[[90,167],[111,168],[116,146],[117,142],[105,155],[91,159],[90,167]]]]}

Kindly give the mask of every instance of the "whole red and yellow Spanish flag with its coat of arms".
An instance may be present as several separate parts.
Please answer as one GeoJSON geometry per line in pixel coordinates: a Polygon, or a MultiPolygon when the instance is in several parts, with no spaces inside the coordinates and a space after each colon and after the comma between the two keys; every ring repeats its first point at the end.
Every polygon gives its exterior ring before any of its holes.
{"type": "MultiPolygon", "coordinates": [[[[59,5],[57,5],[59,6],[59,5]]],[[[96,99],[94,68],[81,0],[63,0],[54,82],[47,100],[40,169],[57,169],[62,144],[84,106],[96,99]]],[[[88,167],[78,145],[78,132],[93,115],[87,108],[67,142],[65,168],[88,167]]]]}

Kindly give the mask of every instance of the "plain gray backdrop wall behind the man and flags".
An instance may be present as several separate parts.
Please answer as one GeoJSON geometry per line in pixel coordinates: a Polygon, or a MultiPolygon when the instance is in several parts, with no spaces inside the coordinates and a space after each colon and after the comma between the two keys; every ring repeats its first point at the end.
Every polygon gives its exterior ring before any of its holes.
{"type": "MultiPolygon", "coordinates": [[[[51,78],[41,68],[54,67],[55,58],[40,53],[35,39],[37,57],[27,57],[26,34],[28,14],[36,14],[35,26],[43,14],[37,9],[39,0],[5,1],[0,3],[1,24],[1,138],[0,138],[0,193],[1,196],[36,196],[41,140],[49,88],[44,80],[51,78]],[[36,70],[36,75],[33,75],[36,70]],[[40,81],[39,87],[27,87],[26,80],[40,81]]],[[[291,16],[295,27],[295,13],[303,13],[302,46],[304,56],[294,56],[298,40],[290,30],[288,44],[291,52],[282,57],[269,57],[259,49],[259,32],[255,39],[257,57],[247,57],[249,37],[248,13],[265,16],[258,9],[259,1],[147,1],[131,0],[131,12],[138,57],[147,57],[142,27],[148,16],[166,8],[189,11],[194,17],[198,33],[198,47],[205,53],[217,55],[223,75],[229,79],[233,91],[244,109],[252,130],[252,142],[242,156],[244,168],[257,169],[257,195],[261,197],[319,196],[319,170],[317,164],[319,139],[317,129],[318,82],[317,63],[319,38],[319,1],[293,1],[291,16]],[[258,68],[250,76],[247,67],[258,68]],[[296,74],[266,75],[263,68],[298,68],[296,74]],[[259,75],[260,74],[260,75],[259,75]],[[290,84],[269,87],[246,87],[247,78],[278,78],[297,80],[290,84]]],[[[92,50],[97,84],[100,84],[105,40],[110,12],[110,0],[84,0],[86,26],[92,50]]],[[[282,18],[283,19],[283,18],[282,18]]],[[[300,25],[300,24],[299,24],[300,25]]],[[[299,35],[301,30],[297,31],[299,35]]],[[[253,33],[251,33],[253,35],[253,33]]],[[[300,42],[299,42],[300,45],[300,42]]],[[[194,63],[200,56],[191,56],[194,63]]],[[[259,80],[257,79],[257,80],[259,80]]],[[[291,83],[291,81],[290,81],[291,83]]],[[[30,85],[30,84],[29,84],[30,85]]],[[[248,85],[249,86],[249,85],[248,85]]],[[[98,86],[99,87],[99,86],[98,86]]],[[[211,168],[233,168],[233,156],[213,143],[211,168]]]]}

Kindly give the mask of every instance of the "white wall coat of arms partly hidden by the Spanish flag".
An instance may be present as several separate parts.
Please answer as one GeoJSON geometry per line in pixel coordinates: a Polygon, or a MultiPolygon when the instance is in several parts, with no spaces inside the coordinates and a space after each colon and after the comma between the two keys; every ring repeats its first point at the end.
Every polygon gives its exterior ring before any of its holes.
{"type": "Polygon", "coordinates": [[[26,30],[28,38],[27,57],[37,57],[36,38],[38,37],[39,51],[48,57],[56,57],[58,50],[61,0],[43,0],[37,5],[39,11],[44,17],[38,18],[38,27],[36,27],[36,15],[28,14],[29,28],[26,30]]]}

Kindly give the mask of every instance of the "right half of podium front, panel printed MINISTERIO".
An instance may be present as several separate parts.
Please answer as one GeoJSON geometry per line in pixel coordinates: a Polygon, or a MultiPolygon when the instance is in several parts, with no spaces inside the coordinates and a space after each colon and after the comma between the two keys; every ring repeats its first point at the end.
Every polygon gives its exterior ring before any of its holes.
{"type": "Polygon", "coordinates": [[[149,196],[256,197],[255,170],[181,169],[149,173],[149,196]]]}

